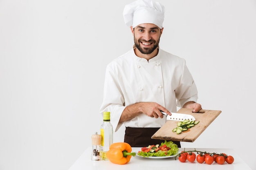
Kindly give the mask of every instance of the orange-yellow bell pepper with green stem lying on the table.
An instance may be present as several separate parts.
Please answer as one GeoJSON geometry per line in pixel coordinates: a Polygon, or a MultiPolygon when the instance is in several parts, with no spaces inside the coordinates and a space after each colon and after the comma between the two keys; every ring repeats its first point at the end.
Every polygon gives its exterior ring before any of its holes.
{"type": "Polygon", "coordinates": [[[119,165],[126,164],[136,153],[132,152],[132,147],[126,142],[117,142],[110,145],[106,156],[112,163],[119,165]]]}

